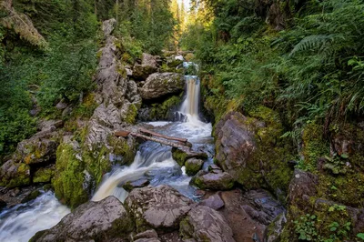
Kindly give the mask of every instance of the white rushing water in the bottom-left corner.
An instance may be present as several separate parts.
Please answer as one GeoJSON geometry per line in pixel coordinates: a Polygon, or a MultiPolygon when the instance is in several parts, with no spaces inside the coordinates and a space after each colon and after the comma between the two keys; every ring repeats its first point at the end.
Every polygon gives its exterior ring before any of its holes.
{"type": "Polygon", "coordinates": [[[0,241],[28,241],[37,231],[54,227],[70,212],[52,192],[0,213],[0,241]]]}

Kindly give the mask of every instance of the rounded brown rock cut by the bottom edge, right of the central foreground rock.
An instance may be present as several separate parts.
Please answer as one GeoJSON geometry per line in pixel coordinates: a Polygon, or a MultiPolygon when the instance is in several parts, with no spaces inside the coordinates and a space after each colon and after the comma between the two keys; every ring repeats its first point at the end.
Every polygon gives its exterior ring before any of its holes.
{"type": "Polygon", "coordinates": [[[180,224],[180,233],[184,239],[194,238],[197,241],[232,242],[233,232],[227,221],[210,207],[192,208],[180,224]]]}

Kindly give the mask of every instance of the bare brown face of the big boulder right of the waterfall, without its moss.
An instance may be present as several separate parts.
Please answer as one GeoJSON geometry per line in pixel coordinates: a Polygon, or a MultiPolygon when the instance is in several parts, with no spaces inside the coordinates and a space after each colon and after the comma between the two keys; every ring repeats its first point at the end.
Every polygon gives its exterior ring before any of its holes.
{"type": "Polygon", "coordinates": [[[257,149],[254,133],[246,120],[246,116],[231,112],[217,123],[216,158],[224,170],[246,166],[248,158],[257,149]]]}

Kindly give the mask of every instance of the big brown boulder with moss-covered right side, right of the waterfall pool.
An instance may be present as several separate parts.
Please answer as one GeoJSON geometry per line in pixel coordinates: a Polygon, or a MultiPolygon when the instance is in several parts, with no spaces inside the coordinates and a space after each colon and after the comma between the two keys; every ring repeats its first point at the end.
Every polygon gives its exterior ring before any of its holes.
{"type": "Polygon", "coordinates": [[[243,187],[266,188],[284,202],[293,170],[293,147],[281,139],[278,113],[266,106],[247,116],[230,112],[216,126],[217,164],[243,187]]]}

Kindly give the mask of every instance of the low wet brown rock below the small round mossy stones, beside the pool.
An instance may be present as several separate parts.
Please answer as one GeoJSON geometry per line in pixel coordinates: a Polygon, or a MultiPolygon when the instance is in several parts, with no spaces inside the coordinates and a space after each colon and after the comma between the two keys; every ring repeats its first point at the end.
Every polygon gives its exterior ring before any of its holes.
{"type": "Polygon", "coordinates": [[[227,172],[216,174],[206,171],[199,171],[190,182],[190,184],[205,190],[228,190],[234,187],[234,183],[233,176],[227,172]]]}

